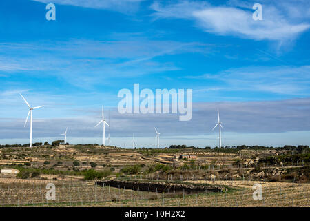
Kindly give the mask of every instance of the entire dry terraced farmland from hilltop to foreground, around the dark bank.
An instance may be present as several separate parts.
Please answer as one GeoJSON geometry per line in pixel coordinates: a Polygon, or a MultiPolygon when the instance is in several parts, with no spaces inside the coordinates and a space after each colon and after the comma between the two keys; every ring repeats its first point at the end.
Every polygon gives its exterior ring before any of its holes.
{"type": "Polygon", "coordinates": [[[0,175],[0,207],[309,207],[309,162],[299,160],[279,165],[258,161],[266,156],[280,154],[283,155],[283,151],[221,153],[203,149],[131,150],[71,145],[31,149],[2,148],[0,167],[15,168],[21,172],[17,176],[0,175]],[[193,154],[197,159],[181,160],[180,154],[193,154]],[[260,162],[260,166],[256,165],[257,162],[260,162]],[[96,173],[93,176],[94,171],[96,173]],[[226,191],[160,193],[140,191],[139,186],[125,189],[121,186],[116,188],[96,185],[95,181],[102,179],[209,184],[225,186],[226,191]],[[55,200],[45,198],[48,183],[56,186],[55,200]],[[262,184],[262,200],[254,200],[254,184],[262,184]]]}

